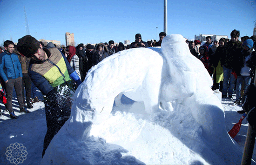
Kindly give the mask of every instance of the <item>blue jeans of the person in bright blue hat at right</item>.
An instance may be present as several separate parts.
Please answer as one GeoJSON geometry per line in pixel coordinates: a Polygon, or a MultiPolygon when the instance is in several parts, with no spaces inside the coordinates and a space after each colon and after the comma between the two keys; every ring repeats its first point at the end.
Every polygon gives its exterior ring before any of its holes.
{"type": "Polygon", "coordinates": [[[236,80],[236,100],[241,100],[241,88],[244,82],[244,92],[251,83],[250,76],[238,76],[236,80]]]}

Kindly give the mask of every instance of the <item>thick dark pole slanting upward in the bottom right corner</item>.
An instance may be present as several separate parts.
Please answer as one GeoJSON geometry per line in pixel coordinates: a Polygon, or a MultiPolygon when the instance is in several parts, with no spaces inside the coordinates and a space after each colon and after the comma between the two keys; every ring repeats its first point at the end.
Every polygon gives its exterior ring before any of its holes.
{"type": "MultiPolygon", "coordinates": [[[[256,86],[256,71],[254,76],[254,86],[256,86]]],[[[250,165],[255,144],[256,132],[255,129],[249,124],[246,134],[246,140],[243,149],[243,158],[241,165],[250,165]]]]}

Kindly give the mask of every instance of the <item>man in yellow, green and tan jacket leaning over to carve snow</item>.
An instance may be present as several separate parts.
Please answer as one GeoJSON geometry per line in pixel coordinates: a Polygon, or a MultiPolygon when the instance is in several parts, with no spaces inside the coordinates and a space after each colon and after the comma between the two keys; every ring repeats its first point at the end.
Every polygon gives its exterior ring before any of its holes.
{"type": "Polygon", "coordinates": [[[46,96],[47,133],[42,153],[44,156],[54,135],[70,116],[70,98],[74,93],[72,80],[80,85],[81,79],[57,48],[42,47],[39,41],[30,35],[19,39],[17,50],[31,59],[28,74],[34,85],[46,96]]]}

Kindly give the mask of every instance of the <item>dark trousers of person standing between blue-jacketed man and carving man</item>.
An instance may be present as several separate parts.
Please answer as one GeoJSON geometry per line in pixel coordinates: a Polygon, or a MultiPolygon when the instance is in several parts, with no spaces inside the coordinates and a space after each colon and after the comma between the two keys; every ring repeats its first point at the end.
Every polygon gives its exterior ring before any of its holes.
{"type": "Polygon", "coordinates": [[[31,106],[30,98],[31,98],[31,85],[32,85],[32,81],[29,77],[29,75],[23,74],[23,82],[22,82],[22,96],[23,96],[23,102],[25,103],[25,96],[24,96],[24,88],[26,91],[26,102],[27,102],[27,106],[31,106]]]}

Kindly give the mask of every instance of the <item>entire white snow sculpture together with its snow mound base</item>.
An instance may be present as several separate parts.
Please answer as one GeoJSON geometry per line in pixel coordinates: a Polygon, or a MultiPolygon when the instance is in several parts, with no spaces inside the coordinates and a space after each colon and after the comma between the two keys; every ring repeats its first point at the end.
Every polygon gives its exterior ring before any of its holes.
{"type": "Polygon", "coordinates": [[[211,86],[179,34],[115,53],[88,72],[41,164],[240,164],[211,86]]]}

